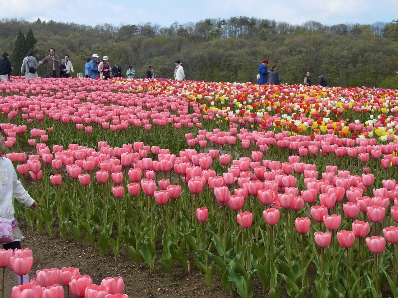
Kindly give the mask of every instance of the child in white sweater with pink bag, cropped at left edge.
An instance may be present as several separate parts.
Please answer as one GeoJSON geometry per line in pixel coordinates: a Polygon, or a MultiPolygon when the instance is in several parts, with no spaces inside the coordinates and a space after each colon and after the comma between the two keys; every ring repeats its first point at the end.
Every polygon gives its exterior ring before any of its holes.
{"type": "MultiPolygon", "coordinates": [[[[4,151],[4,149],[6,149],[4,141],[5,139],[2,133],[0,133],[0,151],[4,151]]],[[[14,165],[10,159],[0,156],[0,217],[7,217],[12,220],[12,232],[14,234],[14,240],[12,242],[0,243],[3,245],[5,250],[10,248],[13,250],[21,248],[21,240],[25,238],[22,235],[20,228],[18,228],[18,222],[14,217],[15,210],[13,197],[25,206],[30,207],[33,210],[37,209],[37,202],[32,199],[25,188],[23,188],[21,182],[18,180],[14,165]]],[[[19,278],[20,277],[18,277],[18,279],[19,278]]],[[[23,283],[29,283],[28,275],[23,277],[23,283]]]]}

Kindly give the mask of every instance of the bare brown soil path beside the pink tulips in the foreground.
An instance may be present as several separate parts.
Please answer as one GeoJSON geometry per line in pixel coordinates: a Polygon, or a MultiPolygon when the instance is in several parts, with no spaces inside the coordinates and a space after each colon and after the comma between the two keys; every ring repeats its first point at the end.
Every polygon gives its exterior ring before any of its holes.
{"type": "MultiPolygon", "coordinates": [[[[213,288],[210,289],[205,283],[205,275],[195,265],[191,259],[191,275],[176,263],[174,270],[169,276],[160,265],[155,265],[154,271],[150,273],[145,262],[137,264],[129,255],[121,249],[120,257],[115,263],[115,259],[109,249],[109,256],[102,255],[94,247],[90,247],[86,242],[79,245],[72,236],[68,240],[60,238],[57,234],[57,225],[54,225],[54,235],[49,236],[43,232],[40,234],[36,229],[30,227],[25,219],[21,219],[20,228],[25,235],[22,241],[23,248],[33,250],[33,267],[29,277],[35,277],[36,271],[44,268],[56,267],[78,267],[80,274],[88,274],[93,279],[94,284],[100,284],[105,277],[123,277],[125,281],[125,294],[130,298],[168,298],[168,297],[203,297],[203,298],[229,298],[229,293],[225,292],[220,283],[220,277],[216,272],[213,273],[213,288]]],[[[45,229],[44,229],[45,230],[45,229]]],[[[161,242],[156,244],[157,259],[162,254],[161,242]]],[[[316,275],[314,268],[308,270],[310,282],[316,275]]],[[[6,269],[6,283],[4,297],[11,297],[12,287],[17,284],[14,273],[10,268],[6,269]]],[[[384,288],[385,297],[391,295],[390,289],[384,288]]],[[[252,279],[253,297],[268,298],[269,288],[263,292],[261,283],[256,274],[252,279]]],[[[311,288],[314,288],[312,283],[311,288]]],[[[238,294],[234,290],[234,296],[238,294]]],[[[71,295],[72,297],[72,295],[71,295]]],[[[289,297],[284,291],[282,298],[289,297]]],[[[305,297],[311,297],[306,293],[305,297]]],[[[384,297],[384,296],[383,296],[384,297]]]]}

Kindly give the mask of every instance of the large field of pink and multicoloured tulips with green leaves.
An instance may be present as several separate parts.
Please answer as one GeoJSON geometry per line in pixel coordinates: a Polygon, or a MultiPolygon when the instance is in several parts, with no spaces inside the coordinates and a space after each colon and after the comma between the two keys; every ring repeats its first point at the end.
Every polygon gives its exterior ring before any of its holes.
{"type": "Polygon", "coordinates": [[[397,90],[13,77],[0,111],[39,232],[226,296],[398,297],[397,90]]]}

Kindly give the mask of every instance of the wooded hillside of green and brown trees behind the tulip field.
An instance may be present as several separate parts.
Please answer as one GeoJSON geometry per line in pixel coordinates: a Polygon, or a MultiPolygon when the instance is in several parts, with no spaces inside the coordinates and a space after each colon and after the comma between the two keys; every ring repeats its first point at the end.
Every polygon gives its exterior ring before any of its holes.
{"type": "MultiPolygon", "coordinates": [[[[187,79],[247,82],[256,81],[258,65],[267,58],[269,65],[277,64],[283,83],[302,83],[309,71],[313,81],[325,75],[330,86],[398,88],[398,20],[329,26],[241,16],[183,25],[175,22],[170,27],[152,23],[92,27],[2,19],[1,52],[16,52],[19,31],[37,41],[38,60],[51,47],[62,58],[68,54],[75,75],[84,72],[87,58],[96,53],[109,56],[111,65],[119,61],[123,73],[133,65],[137,77],[145,77],[152,65],[158,77],[172,78],[174,61],[181,60],[187,79]]],[[[25,56],[27,49],[22,50],[25,56]]],[[[13,74],[20,75],[21,57],[16,56],[11,57],[13,74]]],[[[45,67],[39,67],[39,75],[44,72],[45,67]]]]}

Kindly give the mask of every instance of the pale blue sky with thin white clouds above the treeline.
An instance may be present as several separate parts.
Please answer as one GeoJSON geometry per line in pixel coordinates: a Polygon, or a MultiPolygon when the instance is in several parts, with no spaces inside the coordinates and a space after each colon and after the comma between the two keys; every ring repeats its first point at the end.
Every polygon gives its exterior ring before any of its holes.
{"type": "Polygon", "coordinates": [[[398,18],[398,0],[0,0],[1,18],[62,21],[95,26],[152,23],[169,27],[206,18],[257,17],[302,24],[319,21],[373,24],[398,18]]]}

